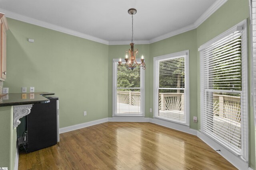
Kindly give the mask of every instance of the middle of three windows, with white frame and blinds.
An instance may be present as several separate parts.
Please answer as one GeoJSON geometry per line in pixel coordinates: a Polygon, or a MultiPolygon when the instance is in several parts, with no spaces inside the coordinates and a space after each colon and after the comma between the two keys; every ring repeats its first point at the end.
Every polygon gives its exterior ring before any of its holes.
{"type": "Polygon", "coordinates": [[[188,51],[154,57],[154,117],[189,125],[188,51]]]}

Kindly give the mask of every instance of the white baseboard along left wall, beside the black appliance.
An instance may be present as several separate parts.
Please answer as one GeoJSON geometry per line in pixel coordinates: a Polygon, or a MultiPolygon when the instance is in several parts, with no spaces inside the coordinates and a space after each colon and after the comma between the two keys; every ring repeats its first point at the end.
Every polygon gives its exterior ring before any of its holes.
{"type": "Polygon", "coordinates": [[[108,117],[104,118],[104,119],[98,119],[98,120],[89,121],[89,122],[86,122],[86,123],[81,123],[81,124],[72,125],[72,126],[68,126],[68,127],[62,127],[62,128],[59,129],[59,133],[74,131],[74,130],[77,130],[77,129],[82,129],[84,127],[97,125],[97,124],[100,124],[100,123],[105,123],[107,121],[108,121],[108,117]]]}

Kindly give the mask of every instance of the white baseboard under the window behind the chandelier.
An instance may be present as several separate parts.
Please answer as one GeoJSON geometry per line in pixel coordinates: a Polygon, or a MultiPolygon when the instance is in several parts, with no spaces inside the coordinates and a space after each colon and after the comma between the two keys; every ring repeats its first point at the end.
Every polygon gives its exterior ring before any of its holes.
{"type": "Polygon", "coordinates": [[[149,122],[148,117],[144,116],[113,116],[108,117],[108,121],[120,121],[120,122],[149,122]]]}

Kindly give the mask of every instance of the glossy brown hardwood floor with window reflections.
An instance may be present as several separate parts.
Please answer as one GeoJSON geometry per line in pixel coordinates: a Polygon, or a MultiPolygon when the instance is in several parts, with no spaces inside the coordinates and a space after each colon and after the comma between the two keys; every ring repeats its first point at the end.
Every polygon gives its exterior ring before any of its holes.
{"type": "Polygon", "coordinates": [[[198,137],[153,123],[106,122],[20,153],[19,170],[236,170],[198,137]]]}

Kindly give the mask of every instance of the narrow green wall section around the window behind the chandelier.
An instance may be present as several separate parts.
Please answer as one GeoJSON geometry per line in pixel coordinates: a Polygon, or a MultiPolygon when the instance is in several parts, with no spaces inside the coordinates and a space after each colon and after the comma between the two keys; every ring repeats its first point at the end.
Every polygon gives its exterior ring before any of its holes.
{"type": "MultiPolygon", "coordinates": [[[[145,117],[150,117],[149,108],[149,79],[152,74],[150,74],[150,60],[149,55],[149,45],[134,45],[135,49],[138,49],[138,60],[141,58],[141,55],[144,56],[146,63],[145,70],[145,117]]],[[[125,51],[130,49],[130,45],[109,45],[108,47],[108,117],[112,117],[112,74],[113,74],[113,59],[125,58],[125,51]]]]}

